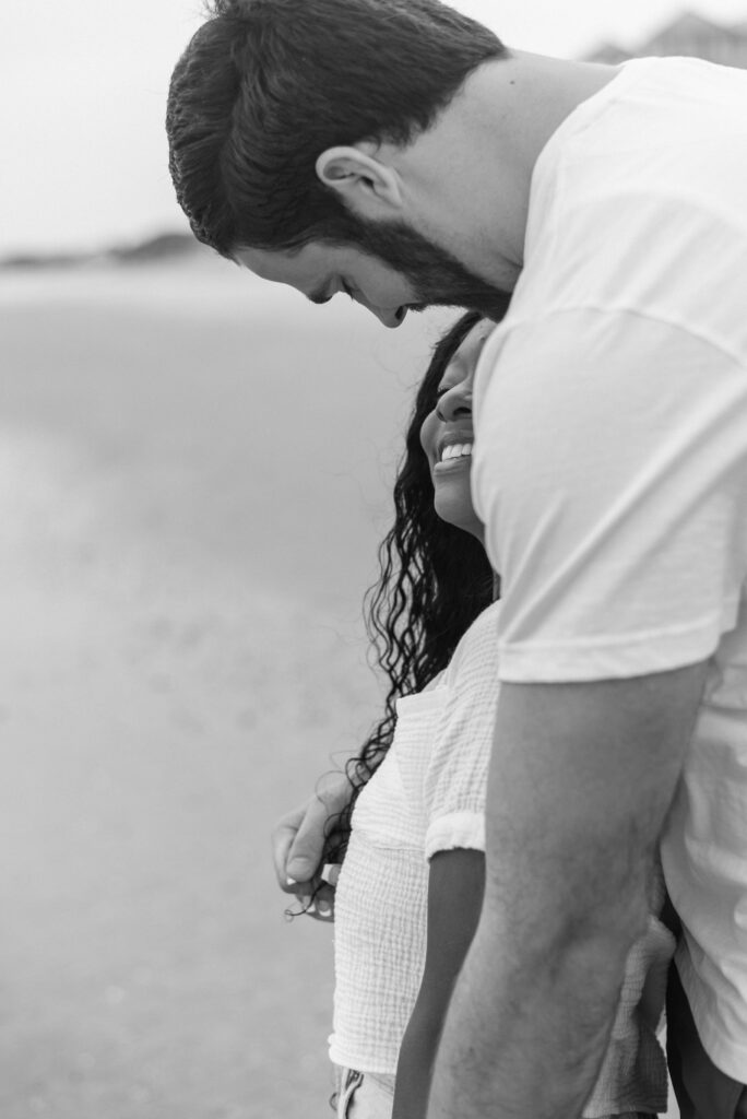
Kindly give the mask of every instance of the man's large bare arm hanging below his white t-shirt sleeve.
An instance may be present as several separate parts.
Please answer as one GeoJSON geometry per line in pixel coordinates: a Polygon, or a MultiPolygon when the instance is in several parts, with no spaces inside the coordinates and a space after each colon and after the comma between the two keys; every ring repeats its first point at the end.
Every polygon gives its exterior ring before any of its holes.
{"type": "Polygon", "coordinates": [[[652,854],[706,666],[504,684],[485,899],[438,1051],[428,1119],[568,1119],[605,1053],[652,854]]]}

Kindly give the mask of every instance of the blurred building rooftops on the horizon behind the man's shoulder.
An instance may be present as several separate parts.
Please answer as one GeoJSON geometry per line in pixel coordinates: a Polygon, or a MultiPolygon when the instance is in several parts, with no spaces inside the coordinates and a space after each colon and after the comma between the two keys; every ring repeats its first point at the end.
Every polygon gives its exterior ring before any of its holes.
{"type": "Polygon", "coordinates": [[[606,43],[586,56],[587,62],[617,63],[628,58],[679,55],[705,58],[722,66],[747,69],[747,6],[745,19],[737,23],[716,23],[685,11],[633,50],[606,43]]]}

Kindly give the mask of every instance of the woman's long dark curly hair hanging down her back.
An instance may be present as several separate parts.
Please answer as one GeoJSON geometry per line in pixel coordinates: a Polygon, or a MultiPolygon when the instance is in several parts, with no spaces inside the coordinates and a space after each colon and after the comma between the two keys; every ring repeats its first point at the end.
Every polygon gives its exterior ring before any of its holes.
{"type": "Polygon", "coordinates": [[[447,666],[462,636],[494,596],[482,544],[434,509],[431,468],[420,445],[420,427],[436,407],[446,367],[480,319],[470,311],[444,335],[415,398],[394,489],[395,523],[379,545],[380,576],[365,601],[366,628],[389,687],[381,718],[346,765],[352,796],[346,809],[328,820],[320,868],[344,857],[356,800],[391,745],[397,699],[422,692],[447,666]]]}

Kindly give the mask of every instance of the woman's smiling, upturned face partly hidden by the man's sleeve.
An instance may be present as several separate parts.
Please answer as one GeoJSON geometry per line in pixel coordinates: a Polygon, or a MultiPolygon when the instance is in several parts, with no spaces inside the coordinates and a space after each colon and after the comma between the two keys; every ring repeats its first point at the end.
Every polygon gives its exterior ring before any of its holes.
{"type": "Polygon", "coordinates": [[[420,444],[431,464],[433,504],[442,520],[479,540],[483,525],[472,505],[472,385],[480,351],[495,323],[475,323],[450,361],[438,386],[438,404],[423,422],[420,444]]]}

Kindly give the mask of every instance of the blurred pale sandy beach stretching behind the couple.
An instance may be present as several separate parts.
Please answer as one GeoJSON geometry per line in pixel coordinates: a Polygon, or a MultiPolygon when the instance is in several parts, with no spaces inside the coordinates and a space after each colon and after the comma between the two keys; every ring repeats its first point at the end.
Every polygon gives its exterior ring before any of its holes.
{"type": "Polygon", "coordinates": [[[268,831],[361,737],[436,320],[221,262],[0,279],[0,1116],[330,1115],[268,831]]]}

